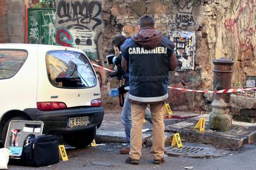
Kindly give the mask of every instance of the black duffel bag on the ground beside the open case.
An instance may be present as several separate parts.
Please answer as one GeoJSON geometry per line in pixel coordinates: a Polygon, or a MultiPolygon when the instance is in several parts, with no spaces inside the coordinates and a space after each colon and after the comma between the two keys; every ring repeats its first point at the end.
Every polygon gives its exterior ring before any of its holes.
{"type": "Polygon", "coordinates": [[[58,139],[52,135],[28,138],[24,142],[21,162],[24,166],[41,167],[58,163],[58,139]]]}

